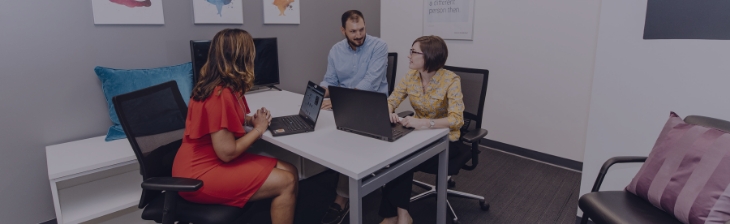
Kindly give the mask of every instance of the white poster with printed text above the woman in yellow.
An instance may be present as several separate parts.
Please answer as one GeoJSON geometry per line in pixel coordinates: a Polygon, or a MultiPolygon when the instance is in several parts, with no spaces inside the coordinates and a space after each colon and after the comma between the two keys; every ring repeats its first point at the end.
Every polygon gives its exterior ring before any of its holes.
{"type": "Polygon", "coordinates": [[[471,40],[474,33],[474,0],[424,0],[423,35],[471,40]]]}

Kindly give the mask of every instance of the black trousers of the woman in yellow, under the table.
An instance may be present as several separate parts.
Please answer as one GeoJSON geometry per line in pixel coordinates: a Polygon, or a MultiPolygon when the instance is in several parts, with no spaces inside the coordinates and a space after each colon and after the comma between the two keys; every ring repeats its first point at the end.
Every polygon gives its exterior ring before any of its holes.
{"type": "MultiPolygon", "coordinates": [[[[461,142],[449,142],[449,150],[459,147],[461,142]]],[[[427,160],[422,165],[438,164],[438,156],[427,160]],[[435,161],[434,161],[435,160],[435,161]]],[[[380,210],[378,214],[383,218],[398,216],[398,208],[408,210],[411,204],[411,191],[413,189],[413,172],[418,170],[418,166],[408,172],[400,175],[383,187],[383,196],[380,200],[380,210]]]]}

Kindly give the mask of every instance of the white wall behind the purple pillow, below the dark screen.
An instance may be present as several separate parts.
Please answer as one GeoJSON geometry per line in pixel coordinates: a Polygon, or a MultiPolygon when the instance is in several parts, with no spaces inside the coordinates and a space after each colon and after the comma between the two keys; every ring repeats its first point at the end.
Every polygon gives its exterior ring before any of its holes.
{"type": "MultiPolygon", "coordinates": [[[[646,0],[601,4],[581,194],[614,156],[646,156],[669,111],[730,120],[730,41],[643,40],[646,0]]],[[[626,187],[640,165],[612,168],[601,190],[626,187]]]]}

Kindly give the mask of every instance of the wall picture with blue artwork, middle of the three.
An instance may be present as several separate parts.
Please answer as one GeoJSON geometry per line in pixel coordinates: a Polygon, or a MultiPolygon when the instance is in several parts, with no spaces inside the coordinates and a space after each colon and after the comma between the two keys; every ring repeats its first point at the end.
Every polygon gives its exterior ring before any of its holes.
{"type": "Polygon", "coordinates": [[[195,24],[243,24],[241,0],[193,0],[195,24]]]}

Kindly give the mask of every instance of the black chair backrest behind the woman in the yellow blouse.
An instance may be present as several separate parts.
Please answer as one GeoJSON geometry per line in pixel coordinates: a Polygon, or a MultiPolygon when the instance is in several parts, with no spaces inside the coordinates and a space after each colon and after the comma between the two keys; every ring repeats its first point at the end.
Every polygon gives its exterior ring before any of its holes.
{"type": "Polygon", "coordinates": [[[461,78],[461,93],[464,95],[464,127],[466,131],[482,128],[484,97],[487,95],[489,70],[444,66],[461,78]]]}

